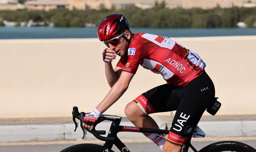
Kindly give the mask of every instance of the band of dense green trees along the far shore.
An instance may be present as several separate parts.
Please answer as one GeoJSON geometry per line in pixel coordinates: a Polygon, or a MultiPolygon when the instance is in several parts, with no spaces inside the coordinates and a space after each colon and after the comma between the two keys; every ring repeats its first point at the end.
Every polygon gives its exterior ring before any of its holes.
{"type": "Polygon", "coordinates": [[[85,23],[92,23],[97,26],[106,15],[121,13],[130,21],[130,27],[214,28],[237,27],[237,22],[240,21],[246,22],[248,27],[252,27],[254,16],[256,16],[256,7],[208,10],[199,8],[167,9],[165,1],[156,1],[155,4],[155,7],[145,10],[134,6],[122,10],[2,10],[0,17],[7,21],[17,22],[17,24],[33,20],[34,22],[45,22],[46,25],[53,22],[55,27],[83,27],[85,23]]]}

